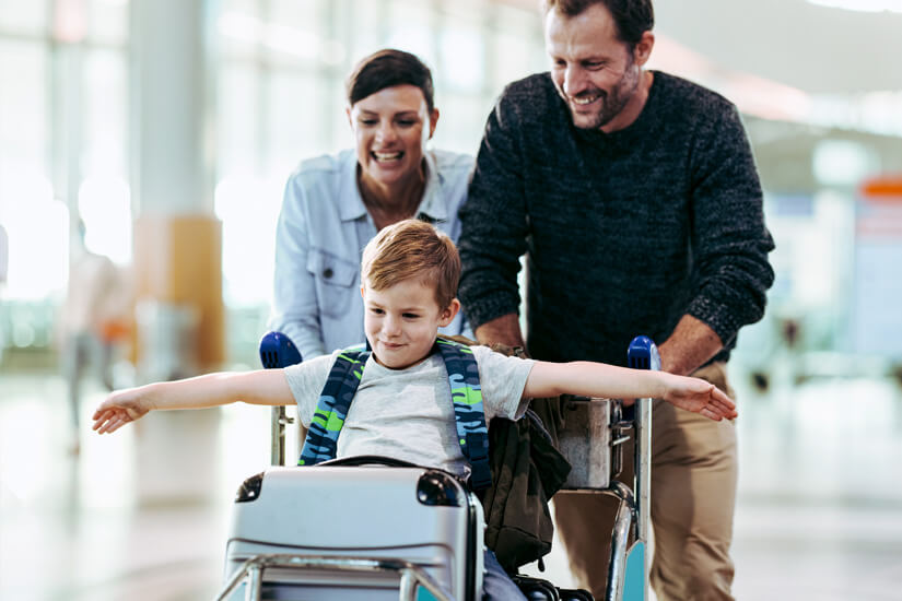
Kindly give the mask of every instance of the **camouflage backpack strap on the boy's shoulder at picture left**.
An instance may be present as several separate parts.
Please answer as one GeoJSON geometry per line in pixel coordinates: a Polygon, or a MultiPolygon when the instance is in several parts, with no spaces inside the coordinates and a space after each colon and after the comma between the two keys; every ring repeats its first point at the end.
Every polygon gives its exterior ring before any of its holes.
{"type": "Polygon", "coordinates": [[[321,461],[335,459],[338,449],[338,435],[344,425],[348,408],[363,377],[363,366],[370,357],[370,351],[363,345],[352,346],[339,353],[332,364],[326,386],[319,394],[304,449],[301,451],[298,466],[315,466],[321,461]]]}

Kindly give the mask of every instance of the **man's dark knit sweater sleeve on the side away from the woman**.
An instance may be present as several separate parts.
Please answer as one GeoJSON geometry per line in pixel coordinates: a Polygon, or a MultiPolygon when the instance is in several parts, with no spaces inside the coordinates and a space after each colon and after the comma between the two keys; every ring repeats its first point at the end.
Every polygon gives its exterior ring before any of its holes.
{"type": "Polygon", "coordinates": [[[695,295],[688,314],[729,345],[736,332],[764,315],[774,280],[768,252],[761,185],[736,107],[708,113],[696,127],[691,161],[695,295]]]}

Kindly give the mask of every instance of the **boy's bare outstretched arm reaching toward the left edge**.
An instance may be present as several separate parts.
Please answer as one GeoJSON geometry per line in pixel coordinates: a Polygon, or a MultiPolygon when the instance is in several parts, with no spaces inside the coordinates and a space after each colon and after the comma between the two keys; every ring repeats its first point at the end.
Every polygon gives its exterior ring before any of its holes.
{"type": "Polygon", "coordinates": [[[92,429],[116,432],[153,410],[203,409],[236,401],[282,405],[294,403],[294,397],[282,369],[208,374],[117,390],[97,405],[92,429]]]}

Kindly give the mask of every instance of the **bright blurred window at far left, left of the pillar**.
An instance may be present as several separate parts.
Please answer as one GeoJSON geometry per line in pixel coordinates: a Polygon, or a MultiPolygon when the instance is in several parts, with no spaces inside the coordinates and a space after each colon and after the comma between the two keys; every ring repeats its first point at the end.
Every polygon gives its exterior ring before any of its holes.
{"type": "Polygon", "coordinates": [[[50,343],[70,235],[127,262],[128,0],[0,0],[0,344],[50,343]]]}

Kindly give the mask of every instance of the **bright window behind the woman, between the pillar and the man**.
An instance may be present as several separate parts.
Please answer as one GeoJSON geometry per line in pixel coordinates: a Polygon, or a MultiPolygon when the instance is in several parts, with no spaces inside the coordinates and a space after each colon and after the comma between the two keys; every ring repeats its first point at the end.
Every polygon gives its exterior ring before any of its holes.
{"type": "Polygon", "coordinates": [[[544,68],[538,12],[483,0],[224,0],[215,31],[225,299],[263,311],[284,182],[301,160],[352,144],[344,79],[358,60],[420,56],[442,115],[432,143],[468,153],[502,82],[544,68]]]}

